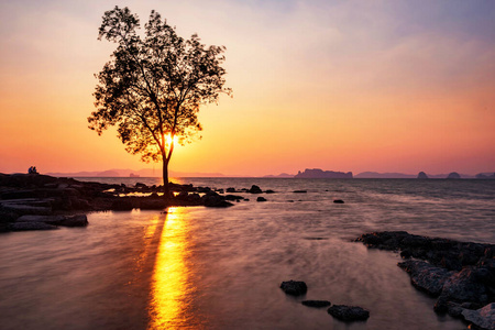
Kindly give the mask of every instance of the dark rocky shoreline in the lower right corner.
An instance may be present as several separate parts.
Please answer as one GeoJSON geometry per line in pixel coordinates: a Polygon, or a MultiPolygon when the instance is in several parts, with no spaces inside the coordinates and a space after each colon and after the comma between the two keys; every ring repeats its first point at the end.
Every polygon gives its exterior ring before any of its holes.
{"type": "Polygon", "coordinates": [[[367,248],[400,252],[397,265],[411,284],[436,297],[435,311],[474,329],[495,329],[495,245],[409,234],[373,232],[355,240],[367,248]]]}

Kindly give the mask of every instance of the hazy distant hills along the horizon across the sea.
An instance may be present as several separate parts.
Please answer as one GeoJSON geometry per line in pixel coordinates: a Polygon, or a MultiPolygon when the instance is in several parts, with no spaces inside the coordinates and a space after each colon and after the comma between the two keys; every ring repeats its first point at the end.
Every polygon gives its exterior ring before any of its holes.
{"type": "MultiPolygon", "coordinates": [[[[133,169],[107,169],[107,170],[92,170],[92,172],[74,172],[74,173],[43,173],[55,177],[161,177],[162,169],[144,168],[139,170],[133,169]]],[[[427,178],[447,178],[452,177],[451,174],[426,174],[427,178]]],[[[168,173],[170,177],[226,177],[221,173],[202,173],[202,172],[175,172],[168,173]]],[[[235,175],[234,177],[239,177],[235,175]]],[[[320,168],[306,168],[298,174],[280,173],[278,175],[265,175],[265,178],[417,178],[418,175],[404,174],[404,173],[378,173],[378,172],[362,172],[356,175],[352,175],[352,172],[333,172],[322,170],[320,168]]],[[[424,177],[424,176],[421,176],[424,177]]],[[[480,179],[495,179],[495,173],[480,173],[476,175],[460,174],[460,178],[480,178],[480,179]]]]}

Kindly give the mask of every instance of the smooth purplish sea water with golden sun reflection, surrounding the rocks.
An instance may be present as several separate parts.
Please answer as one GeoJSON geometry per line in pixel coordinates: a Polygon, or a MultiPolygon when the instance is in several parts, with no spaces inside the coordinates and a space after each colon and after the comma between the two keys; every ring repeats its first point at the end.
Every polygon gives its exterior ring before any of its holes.
{"type": "Polygon", "coordinates": [[[263,195],[266,202],[245,194],[250,201],[228,209],[98,212],[82,229],[1,234],[0,328],[465,329],[433,312],[435,299],[410,285],[397,254],[351,240],[406,230],[495,243],[495,182],[176,182],[277,194],[263,195]],[[278,286],[288,279],[305,280],[306,296],[286,296],[278,286]],[[343,323],[302,299],[362,306],[371,317],[343,323]]]}

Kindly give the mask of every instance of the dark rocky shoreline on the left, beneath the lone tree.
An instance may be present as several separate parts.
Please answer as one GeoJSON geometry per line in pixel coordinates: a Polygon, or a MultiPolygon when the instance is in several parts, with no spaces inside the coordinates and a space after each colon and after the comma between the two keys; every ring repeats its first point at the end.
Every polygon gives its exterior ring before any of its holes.
{"type": "Polygon", "coordinates": [[[165,200],[164,190],[163,186],[144,184],[130,187],[41,174],[0,174],[0,232],[84,227],[88,223],[86,213],[91,211],[163,210],[173,206],[224,208],[233,206],[233,201],[248,200],[235,193],[274,193],[252,186],[241,190],[228,188],[224,194],[223,189],[170,183],[174,196],[165,200]]]}

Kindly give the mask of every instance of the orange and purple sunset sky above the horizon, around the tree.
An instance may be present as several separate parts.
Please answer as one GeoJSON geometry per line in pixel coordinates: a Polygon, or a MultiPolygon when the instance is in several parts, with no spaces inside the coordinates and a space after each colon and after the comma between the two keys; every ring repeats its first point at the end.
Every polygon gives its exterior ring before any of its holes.
{"type": "Polygon", "coordinates": [[[0,173],[152,168],[87,128],[116,4],[227,47],[172,170],[495,170],[495,1],[0,0],[0,173]]]}

